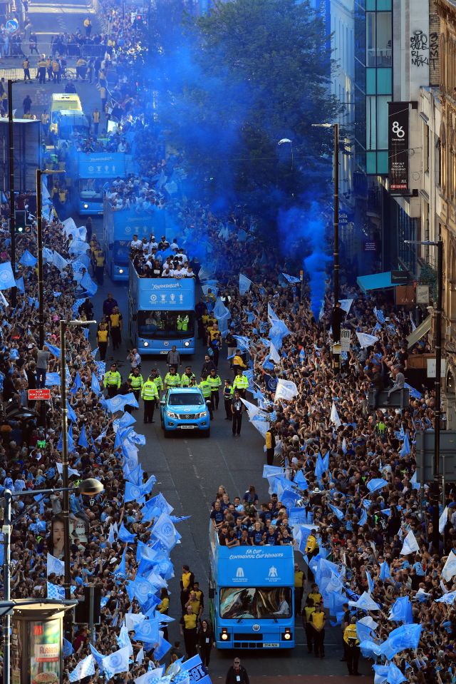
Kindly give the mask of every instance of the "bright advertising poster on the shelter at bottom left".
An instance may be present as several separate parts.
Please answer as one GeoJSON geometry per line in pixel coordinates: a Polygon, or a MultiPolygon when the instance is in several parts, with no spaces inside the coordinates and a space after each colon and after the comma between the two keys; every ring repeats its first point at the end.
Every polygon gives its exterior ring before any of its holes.
{"type": "Polygon", "coordinates": [[[29,629],[31,684],[59,684],[61,621],[32,621],[29,629]]]}

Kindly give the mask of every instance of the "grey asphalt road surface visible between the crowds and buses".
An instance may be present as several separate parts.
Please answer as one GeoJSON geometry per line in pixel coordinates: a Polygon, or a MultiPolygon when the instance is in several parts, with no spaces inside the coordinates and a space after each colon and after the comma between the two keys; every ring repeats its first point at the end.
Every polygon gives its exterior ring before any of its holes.
{"type": "MultiPolygon", "coordinates": [[[[51,40],[51,34],[61,31],[76,31],[81,28],[83,19],[90,12],[90,6],[85,0],[31,3],[31,21],[33,30],[38,33],[38,41],[44,44],[51,40]]],[[[100,30],[100,24],[95,15],[90,14],[94,31],[100,30]]],[[[24,46],[26,47],[26,46],[24,46]]],[[[28,53],[28,49],[26,50],[28,53]]],[[[33,58],[34,59],[34,58],[33,58]]],[[[33,64],[32,60],[32,64],[33,64]]],[[[0,76],[2,68],[20,67],[21,60],[7,59],[0,63],[0,76]]],[[[7,76],[8,77],[8,76],[7,76]]],[[[9,76],[11,77],[11,76],[9,76]]],[[[77,84],[78,94],[81,96],[83,109],[91,113],[93,107],[100,106],[98,90],[88,83],[77,84]]],[[[21,83],[14,85],[14,107],[21,111],[22,100],[26,93],[32,98],[32,112],[37,118],[48,102],[53,92],[63,91],[64,85],[56,86],[46,83],[38,86],[37,83],[21,83]]],[[[73,216],[76,225],[83,225],[83,218],[73,216]]],[[[95,219],[95,229],[101,235],[101,220],[95,219]]],[[[126,339],[128,329],[128,288],[127,285],[118,285],[110,282],[105,277],[103,287],[100,287],[97,295],[93,297],[95,318],[101,317],[102,302],[108,292],[120,305],[123,313],[125,332],[122,347],[115,353],[115,361],[120,366],[120,372],[125,378],[130,372],[130,365],[126,359],[128,349],[131,348],[130,340],[126,339]]],[[[93,335],[93,333],[92,333],[93,335]]],[[[108,360],[112,357],[112,350],[108,349],[108,360]]],[[[199,376],[204,356],[204,347],[200,346],[197,353],[189,360],[192,369],[199,376]]],[[[223,354],[222,354],[223,357],[223,354]]],[[[155,357],[143,358],[142,374],[146,377],[152,367],[158,367],[162,377],[166,372],[163,359],[155,357]]],[[[229,366],[226,361],[221,362],[219,368],[222,380],[231,377],[229,366]]],[[[195,573],[204,591],[207,603],[207,581],[209,572],[208,548],[209,548],[209,511],[211,502],[220,484],[223,484],[229,495],[242,496],[248,489],[249,484],[255,484],[259,491],[260,501],[269,499],[267,488],[261,478],[264,464],[263,445],[261,435],[252,427],[244,416],[242,434],[239,438],[233,438],[231,424],[224,420],[222,407],[215,414],[212,423],[210,439],[202,439],[197,435],[184,434],[172,439],[164,439],[160,429],[158,412],[155,412],[155,424],[142,424],[142,406],[135,413],[138,419],[138,432],[145,434],[147,444],[140,448],[142,466],[150,473],[157,476],[160,484],[155,486],[155,493],[162,491],[167,501],[174,506],[175,515],[190,515],[191,518],[180,524],[179,531],[182,534],[182,543],[172,551],[172,561],[175,563],[176,577],[170,583],[172,592],[170,601],[170,615],[176,618],[176,622],[170,625],[170,640],[183,639],[179,634],[180,601],[179,579],[183,563],[187,563],[195,573]]],[[[207,606],[204,614],[207,616],[207,606]]],[[[328,624],[328,623],[327,623],[328,624]]],[[[242,663],[247,668],[253,684],[272,684],[279,678],[286,678],[289,684],[338,684],[340,681],[350,682],[352,678],[346,675],[345,663],[340,662],[342,656],[341,630],[340,628],[326,629],[326,658],[320,660],[306,653],[304,644],[304,631],[300,619],[296,622],[296,648],[292,651],[276,651],[258,653],[258,651],[243,651],[240,655],[242,663]],[[253,676],[252,676],[253,675],[253,676]]],[[[227,668],[232,664],[234,653],[231,651],[212,651],[210,675],[212,680],[224,677],[227,668]]],[[[361,665],[361,671],[366,673],[371,680],[371,668],[368,663],[361,665]]],[[[356,681],[357,678],[353,678],[356,681]]]]}

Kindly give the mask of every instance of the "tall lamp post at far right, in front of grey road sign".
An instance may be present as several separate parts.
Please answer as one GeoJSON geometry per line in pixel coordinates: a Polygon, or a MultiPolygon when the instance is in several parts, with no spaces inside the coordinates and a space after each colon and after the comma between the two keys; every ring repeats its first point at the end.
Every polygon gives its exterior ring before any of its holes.
{"type": "Polygon", "coordinates": [[[443,240],[439,235],[437,242],[432,240],[404,240],[406,245],[426,245],[437,247],[437,308],[435,310],[435,405],[434,405],[434,504],[432,506],[432,544],[439,551],[439,501],[440,501],[440,378],[442,369],[442,292],[443,292],[443,240]]]}

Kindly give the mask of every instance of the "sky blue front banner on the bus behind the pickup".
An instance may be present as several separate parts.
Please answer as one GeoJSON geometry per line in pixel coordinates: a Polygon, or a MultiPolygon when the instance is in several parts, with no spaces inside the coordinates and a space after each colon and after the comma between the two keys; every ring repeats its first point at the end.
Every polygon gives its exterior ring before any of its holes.
{"type": "Polygon", "coordinates": [[[138,309],[193,310],[195,308],[195,280],[182,278],[137,278],[138,309]]]}

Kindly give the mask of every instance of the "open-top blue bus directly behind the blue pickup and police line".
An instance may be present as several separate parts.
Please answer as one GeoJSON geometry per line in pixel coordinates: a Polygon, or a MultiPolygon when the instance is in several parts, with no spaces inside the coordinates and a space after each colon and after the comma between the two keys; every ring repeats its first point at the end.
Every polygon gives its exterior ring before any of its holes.
{"type": "Polygon", "coordinates": [[[140,278],[130,262],[128,325],[140,354],[193,354],[195,279],[140,278]]]}

